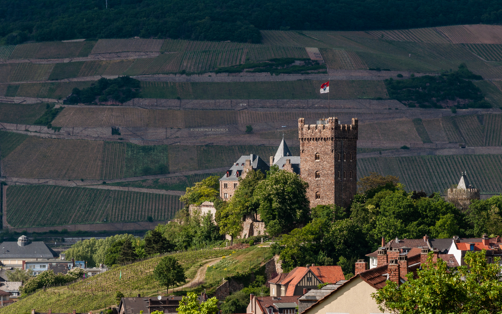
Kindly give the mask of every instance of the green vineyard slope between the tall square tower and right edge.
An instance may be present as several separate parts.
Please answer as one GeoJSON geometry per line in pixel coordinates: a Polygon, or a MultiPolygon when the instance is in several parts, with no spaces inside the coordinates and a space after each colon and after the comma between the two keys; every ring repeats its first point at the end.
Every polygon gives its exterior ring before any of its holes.
{"type": "Polygon", "coordinates": [[[462,171],[482,193],[502,192],[502,155],[449,155],[357,159],[357,177],[379,172],[398,176],[407,190],[443,192],[462,171]]]}

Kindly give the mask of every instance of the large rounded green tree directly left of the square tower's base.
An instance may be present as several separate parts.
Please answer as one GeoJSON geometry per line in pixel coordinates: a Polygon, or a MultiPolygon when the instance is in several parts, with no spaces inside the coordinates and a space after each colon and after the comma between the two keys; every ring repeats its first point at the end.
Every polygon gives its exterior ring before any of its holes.
{"type": "Polygon", "coordinates": [[[296,173],[272,166],[255,191],[260,201],[258,212],[265,227],[277,221],[284,232],[304,222],[309,212],[307,187],[308,183],[296,173]]]}

